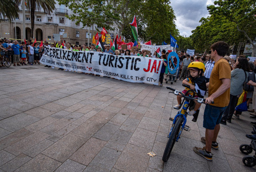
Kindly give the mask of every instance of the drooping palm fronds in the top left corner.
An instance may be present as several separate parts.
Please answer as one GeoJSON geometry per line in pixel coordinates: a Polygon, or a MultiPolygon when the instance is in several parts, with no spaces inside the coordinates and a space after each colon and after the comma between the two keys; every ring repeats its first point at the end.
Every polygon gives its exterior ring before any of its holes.
{"type": "Polygon", "coordinates": [[[18,5],[14,0],[2,0],[0,2],[0,22],[4,20],[5,16],[9,21],[18,17],[18,5]]]}

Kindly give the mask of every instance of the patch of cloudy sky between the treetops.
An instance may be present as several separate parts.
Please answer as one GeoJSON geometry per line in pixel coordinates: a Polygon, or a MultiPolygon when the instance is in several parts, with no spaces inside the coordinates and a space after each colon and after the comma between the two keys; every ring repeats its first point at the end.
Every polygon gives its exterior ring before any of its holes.
{"type": "Polygon", "coordinates": [[[180,35],[190,36],[191,31],[199,26],[202,17],[209,16],[207,5],[213,5],[214,0],[171,0],[171,6],[176,16],[176,26],[180,35]]]}

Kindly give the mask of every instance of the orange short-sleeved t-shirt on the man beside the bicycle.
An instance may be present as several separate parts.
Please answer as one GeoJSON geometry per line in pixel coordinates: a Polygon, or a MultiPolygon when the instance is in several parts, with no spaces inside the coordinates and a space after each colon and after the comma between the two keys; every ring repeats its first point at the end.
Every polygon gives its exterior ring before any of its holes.
{"type": "MultiPolygon", "coordinates": [[[[212,69],[210,74],[210,83],[209,83],[209,96],[219,89],[222,82],[221,79],[231,79],[231,69],[230,64],[225,59],[219,59],[212,69]]],[[[226,90],[221,96],[214,99],[214,104],[212,106],[217,107],[226,107],[230,101],[230,88],[226,90]]]]}

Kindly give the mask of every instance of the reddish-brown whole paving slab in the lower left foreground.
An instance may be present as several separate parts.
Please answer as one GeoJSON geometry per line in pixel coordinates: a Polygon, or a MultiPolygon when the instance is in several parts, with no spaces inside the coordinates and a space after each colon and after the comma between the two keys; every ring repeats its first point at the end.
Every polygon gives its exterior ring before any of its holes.
{"type": "Polygon", "coordinates": [[[75,153],[73,153],[70,159],[84,165],[89,165],[91,160],[93,160],[105,144],[105,141],[91,137],[77,151],[75,151],[75,153]]]}

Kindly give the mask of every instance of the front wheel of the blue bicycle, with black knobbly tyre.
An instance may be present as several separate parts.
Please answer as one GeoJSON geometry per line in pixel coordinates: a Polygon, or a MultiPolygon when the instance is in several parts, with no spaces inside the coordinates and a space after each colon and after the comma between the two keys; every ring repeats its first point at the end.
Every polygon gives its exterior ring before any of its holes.
{"type": "Polygon", "coordinates": [[[169,156],[172,152],[172,148],[174,147],[176,139],[179,135],[179,130],[181,129],[181,123],[182,123],[182,118],[177,117],[177,120],[174,124],[174,128],[172,129],[172,133],[168,139],[167,145],[165,147],[165,151],[163,153],[163,158],[162,158],[163,162],[167,162],[167,160],[169,159],[169,156]]]}

